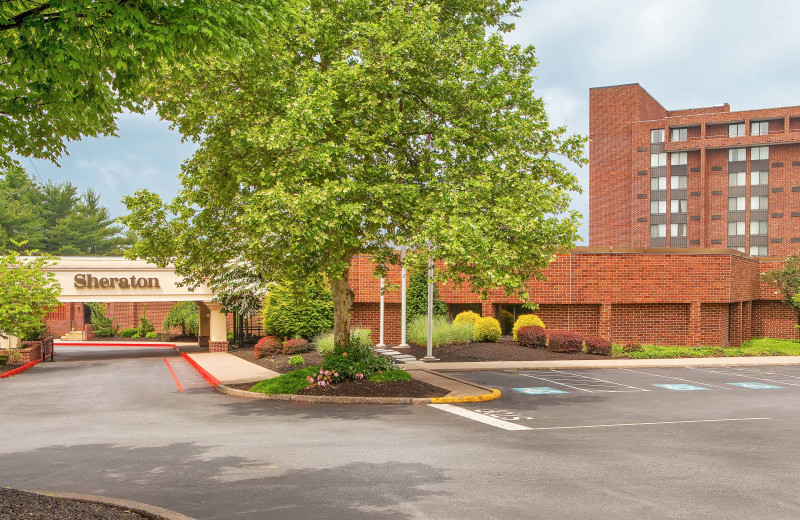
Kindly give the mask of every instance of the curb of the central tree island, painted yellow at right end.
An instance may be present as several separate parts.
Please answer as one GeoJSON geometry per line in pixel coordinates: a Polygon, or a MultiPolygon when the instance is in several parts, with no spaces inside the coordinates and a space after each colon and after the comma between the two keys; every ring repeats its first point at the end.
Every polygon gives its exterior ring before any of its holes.
{"type": "MultiPolygon", "coordinates": [[[[448,378],[454,379],[454,378],[448,378]]],[[[472,386],[478,387],[470,383],[472,386]]],[[[291,394],[261,394],[248,392],[225,385],[217,385],[217,392],[234,397],[247,399],[261,399],[266,401],[292,401],[295,403],[332,403],[332,404],[432,404],[432,403],[477,403],[499,399],[501,394],[497,389],[485,389],[489,393],[477,395],[462,395],[453,397],[343,397],[332,395],[291,395],[291,394]]]]}

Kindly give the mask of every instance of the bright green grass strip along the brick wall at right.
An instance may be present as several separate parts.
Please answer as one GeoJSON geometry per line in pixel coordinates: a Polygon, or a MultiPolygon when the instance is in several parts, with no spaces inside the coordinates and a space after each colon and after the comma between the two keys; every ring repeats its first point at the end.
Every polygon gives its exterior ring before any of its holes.
{"type": "Polygon", "coordinates": [[[633,359],[660,359],[685,357],[747,357],[747,356],[800,356],[800,341],[791,339],[754,338],[740,347],[663,347],[642,345],[638,352],[624,352],[622,345],[614,344],[612,356],[633,359]]]}

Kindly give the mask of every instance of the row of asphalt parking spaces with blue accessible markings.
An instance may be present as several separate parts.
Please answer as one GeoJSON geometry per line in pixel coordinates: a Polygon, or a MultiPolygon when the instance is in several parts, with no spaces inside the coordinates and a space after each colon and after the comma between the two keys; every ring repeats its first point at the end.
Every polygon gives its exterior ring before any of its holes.
{"type": "Polygon", "coordinates": [[[503,397],[455,412],[514,431],[763,422],[796,413],[800,367],[534,370],[453,374],[503,397]]]}

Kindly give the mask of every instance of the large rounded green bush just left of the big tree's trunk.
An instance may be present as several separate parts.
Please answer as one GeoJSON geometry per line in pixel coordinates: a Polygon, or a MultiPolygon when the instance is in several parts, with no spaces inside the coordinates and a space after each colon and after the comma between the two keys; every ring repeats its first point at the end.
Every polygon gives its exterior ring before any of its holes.
{"type": "Polygon", "coordinates": [[[321,284],[276,285],[264,301],[264,330],[283,338],[312,338],[333,328],[333,299],[321,284]]]}

